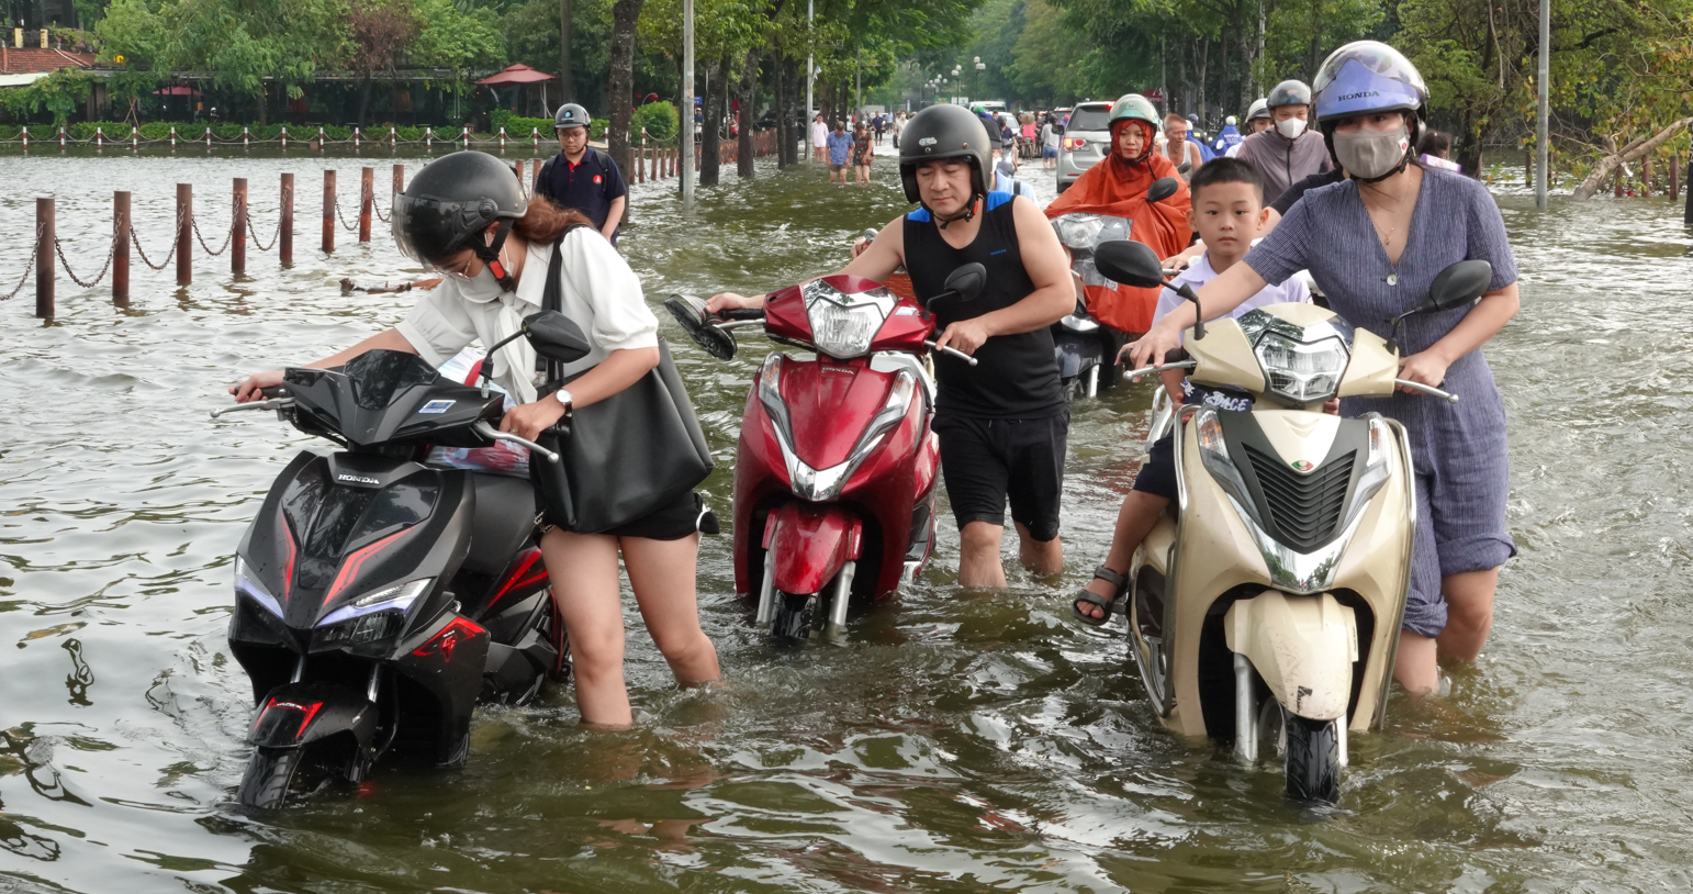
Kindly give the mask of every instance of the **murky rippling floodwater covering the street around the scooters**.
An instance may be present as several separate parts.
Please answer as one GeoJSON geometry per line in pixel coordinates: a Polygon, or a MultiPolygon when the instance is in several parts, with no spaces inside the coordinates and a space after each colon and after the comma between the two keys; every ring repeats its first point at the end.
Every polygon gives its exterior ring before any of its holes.
{"type": "MultiPolygon", "coordinates": [[[[400,318],[415,276],[383,237],[317,251],[320,179],[350,201],[366,159],[181,149],[0,157],[0,295],[25,262],[37,190],[66,256],[98,269],[110,191],[141,240],[169,242],[176,181],[222,242],[230,178],[254,229],[298,174],[295,268],[249,246],[249,276],[196,246],[196,281],[134,264],[134,301],[59,279],[0,303],[0,891],[1327,891],[1610,892],[1693,887],[1693,235],[1668,200],[1498,190],[1522,313],[1488,347],[1512,422],[1510,530],[1493,638],[1451,696],[1393,703],[1353,740],[1343,806],[1282,799],[1153,718],[1119,628],[1082,630],[1065,594],[1104,555],[1136,467],[1144,388],[1078,403],[1060,581],[955,584],[957,532],[845,645],[775,648],[733,596],[728,537],[699,559],[726,687],[677,691],[628,603],[638,728],[577,725],[555,687],[481,711],[469,767],[389,770],[249,818],[229,799],[251,718],[223,632],[230,550],[271,477],[322,447],[269,415],[207,411],[242,372],[318,357],[400,318]]],[[[508,157],[530,157],[513,151],[508,157]]],[[[405,159],[415,171],[422,159],[405,159]]],[[[703,190],[635,188],[623,249],[670,291],[765,290],[833,269],[904,210],[891,161],[870,188],[816,168],[703,190]]],[[[1050,181],[1033,174],[1040,188],[1050,181]]],[[[720,510],[750,374],[677,344],[720,461],[720,510]]],[[[1007,560],[1011,552],[1007,549],[1007,560]]]]}

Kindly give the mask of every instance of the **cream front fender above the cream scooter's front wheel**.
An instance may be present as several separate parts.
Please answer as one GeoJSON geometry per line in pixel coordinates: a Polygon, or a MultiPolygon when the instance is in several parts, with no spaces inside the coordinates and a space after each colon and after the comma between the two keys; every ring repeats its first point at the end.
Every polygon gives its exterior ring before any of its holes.
{"type": "MultiPolygon", "coordinates": [[[[1292,715],[1343,720],[1353,694],[1358,620],[1334,596],[1266,589],[1222,616],[1229,650],[1246,655],[1292,715]]],[[[1343,720],[1344,721],[1344,720],[1343,720]]]]}

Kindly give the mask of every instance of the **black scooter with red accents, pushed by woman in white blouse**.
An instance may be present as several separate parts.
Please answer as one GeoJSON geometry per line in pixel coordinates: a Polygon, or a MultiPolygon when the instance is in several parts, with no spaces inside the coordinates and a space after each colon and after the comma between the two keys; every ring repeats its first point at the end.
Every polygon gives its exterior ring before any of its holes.
{"type": "MultiPolygon", "coordinates": [[[[589,345],[557,312],[523,322],[543,357],[589,345]]],[[[511,339],[508,339],[511,340],[511,339]]],[[[489,356],[505,342],[489,349],[489,356]]],[[[569,676],[564,623],[523,477],[422,462],[430,445],[508,440],[505,396],[437,374],[415,354],[369,350],[334,369],[293,367],[262,401],[339,444],[301,450],[235,549],[229,647],[259,709],[237,801],[279,808],[330,781],[359,784],[379,757],[469,757],[477,703],[523,704],[569,676]]]]}

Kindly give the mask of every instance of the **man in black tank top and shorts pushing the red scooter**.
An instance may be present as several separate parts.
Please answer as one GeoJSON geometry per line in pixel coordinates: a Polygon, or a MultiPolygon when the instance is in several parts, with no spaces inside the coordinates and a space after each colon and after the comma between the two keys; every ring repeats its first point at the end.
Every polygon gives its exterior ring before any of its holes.
{"type": "MultiPolygon", "coordinates": [[[[931,308],[943,327],[936,342],[977,359],[972,367],[935,354],[935,432],[962,540],[958,582],[1006,586],[999,547],[1007,499],[1023,564],[1056,574],[1063,569],[1058,508],[1070,410],[1048,327],[1075,306],[1068,257],[1033,201],[987,191],[992,142],[968,110],[918,112],[899,146],[906,198],[923,207],[882,227],[840,273],[885,281],[904,266],[918,300],[926,301],[945,291],[957,268],[972,261],[987,268],[975,300],[931,308]]],[[[762,295],[725,293],[708,308],[762,305],[762,295]]]]}

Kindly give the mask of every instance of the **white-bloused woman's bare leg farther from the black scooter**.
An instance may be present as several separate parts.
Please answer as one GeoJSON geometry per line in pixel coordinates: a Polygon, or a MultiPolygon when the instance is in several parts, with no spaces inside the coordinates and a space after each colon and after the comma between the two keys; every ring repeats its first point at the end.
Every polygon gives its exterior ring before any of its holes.
{"type": "Polygon", "coordinates": [[[623,537],[620,542],[640,616],[677,682],[698,686],[723,676],[716,647],[699,630],[699,603],[694,598],[699,535],[681,540],[623,537]]]}

